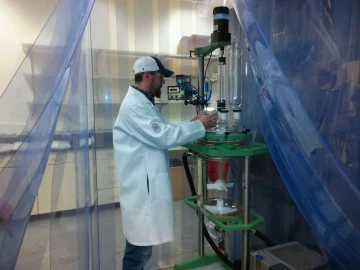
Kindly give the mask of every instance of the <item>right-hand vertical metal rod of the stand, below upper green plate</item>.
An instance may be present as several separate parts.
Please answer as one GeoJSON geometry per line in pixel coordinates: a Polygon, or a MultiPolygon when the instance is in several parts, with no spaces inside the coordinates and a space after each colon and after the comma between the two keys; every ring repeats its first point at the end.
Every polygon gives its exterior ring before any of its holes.
{"type": "MultiPolygon", "coordinates": [[[[249,206],[249,164],[250,158],[245,157],[245,172],[242,181],[242,210],[243,210],[243,223],[244,225],[250,223],[250,206],[249,206]]],[[[249,250],[250,250],[250,233],[245,230],[242,233],[242,261],[241,269],[246,270],[249,266],[249,250]]]]}

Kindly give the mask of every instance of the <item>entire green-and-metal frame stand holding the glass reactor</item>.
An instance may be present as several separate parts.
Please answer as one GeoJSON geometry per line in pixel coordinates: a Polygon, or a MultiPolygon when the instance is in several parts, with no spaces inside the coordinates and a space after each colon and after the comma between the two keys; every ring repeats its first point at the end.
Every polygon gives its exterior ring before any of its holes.
{"type": "MultiPolygon", "coordinates": [[[[198,93],[200,97],[204,96],[204,58],[206,55],[209,55],[211,52],[218,48],[223,48],[225,46],[231,45],[231,42],[227,41],[217,41],[209,46],[202,48],[195,48],[194,54],[198,57],[198,74],[199,74],[199,85],[198,85],[198,93]]],[[[204,103],[200,102],[200,109],[204,109],[204,103]]],[[[248,138],[251,137],[250,134],[243,134],[245,136],[243,138],[247,141],[248,138]]],[[[221,138],[217,138],[220,139],[221,138]]],[[[226,141],[228,140],[226,135],[226,141]]],[[[183,147],[191,149],[196,153],[202,153],[205,156],[220,156],[220,157],[245,157],[245,173],[244,179],[242,182],[242,190],[243,190],[243,216],[242,217],[231,217],[227,219],[219,219],[215,217],[208,217],[216,226],[221,228],[224,231],[243,231],[243,243],[242,243],[242,269],[248,269],[249,265],[249,230],[258,226],[264,221],[264,218],[255,212],[250,212],[249,206],[249,162],[250,156],[259,155],[267,153],[267,147],[263,144],[246,144],[242,146],[231,146],[231,147],[208,147],[202,144],[197,143],[189,143],[185,144],[183,147]],[[250,216],[252,217],[250,220],[250,216]]],[[[197,156],[197,196],[193,196],[185,200],[185,203],[191,207],[192,209],[198,211],[198,230],[199,230],[199,238],[198,238],[198,255],[194,256],[180,264],[176,264],[174,266],[175,270],[188,270],[203,267],[205,265],[209,265],[216,262],[222,262],[221,259],[216,254],[205,254],[204,253],[204,230],[206,230],[204,225],[204,214],[201,210],[201,204],[206,192],[206,181],[204,176],[206,176],[206,172],[204,173],[204,159],[197,156]],[[196,201],[196,202],[195,202],[196,201]]],[[[206,177],[205,177],[206,178],[206,177]]]]}

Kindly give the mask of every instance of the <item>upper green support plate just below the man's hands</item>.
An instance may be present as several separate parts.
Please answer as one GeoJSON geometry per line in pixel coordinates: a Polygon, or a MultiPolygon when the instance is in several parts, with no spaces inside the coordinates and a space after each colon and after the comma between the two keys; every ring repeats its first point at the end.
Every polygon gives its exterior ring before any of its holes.
{"type": "Polygon", "coordinates": [[[251,143],[245,145],[216,143],[214,145],[204,145],[195,142],[184,144],[182,147],[210,157],[251,157],[268,152],[266,144],[260,143],[251,143]]]}

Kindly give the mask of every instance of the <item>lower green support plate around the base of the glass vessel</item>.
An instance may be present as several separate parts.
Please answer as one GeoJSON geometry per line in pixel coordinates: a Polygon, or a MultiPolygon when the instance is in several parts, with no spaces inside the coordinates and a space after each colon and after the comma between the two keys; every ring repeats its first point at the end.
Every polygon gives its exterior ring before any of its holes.
{"type": "MultiPolygon", "coordinates": [[[[197,211],[196,196],[185,199],[185,204],[197,211]]],[[[217,218],[209,216],[209,220],[224,231],[245,231],[251,230],[264,222],[264,218],[254,211],[250,211],[251,222],[243,224],[242,216],[217,218]]]]}

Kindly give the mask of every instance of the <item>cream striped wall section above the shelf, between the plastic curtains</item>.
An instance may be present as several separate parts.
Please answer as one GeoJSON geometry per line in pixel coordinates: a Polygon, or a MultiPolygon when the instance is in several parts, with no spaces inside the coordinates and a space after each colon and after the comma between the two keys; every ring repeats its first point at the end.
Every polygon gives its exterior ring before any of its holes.
{"type": "Polygon", "coordinates": [[[176,54],[182,36],[212,31],[212,10],[179,0],[97,0],[91,19],[100,49],[176,54]]]}

